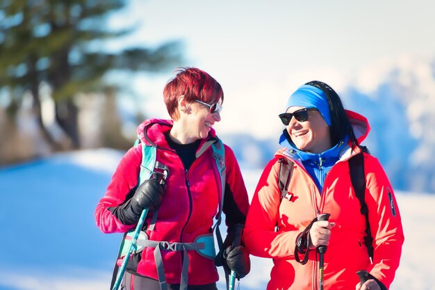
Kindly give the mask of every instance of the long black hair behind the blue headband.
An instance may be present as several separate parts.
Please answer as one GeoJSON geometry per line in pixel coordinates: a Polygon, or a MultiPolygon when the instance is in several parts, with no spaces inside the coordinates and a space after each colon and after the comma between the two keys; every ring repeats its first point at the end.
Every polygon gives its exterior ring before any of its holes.
{"type": "Polygon", "coordinates": [[[329,112],[331,114],[331,127],[329,129],[329,134],[331,136],[332,144],[335,145],[346,136],[349,136],[352,148],[358,146],[358,140],[356,140],[352,124],[350,124],[349,116],[347,115],[343,102],[341,102],[337,92],[327,85],[327,83],[323,83],[322,81],[309,81],[305,84],[320,88],[320,90],[325,92],[325,95],[327,96],[329,112]]]}

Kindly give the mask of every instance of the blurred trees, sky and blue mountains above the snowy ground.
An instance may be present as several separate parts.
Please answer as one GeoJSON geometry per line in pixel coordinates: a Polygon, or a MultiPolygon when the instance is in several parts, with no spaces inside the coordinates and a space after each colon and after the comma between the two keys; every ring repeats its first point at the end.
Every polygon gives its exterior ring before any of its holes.
{"type": "Polygon", "coordinates": [[[286,99],[318,79],[368,118],[395,188],[435,193],[430,1],[0,3],[0,166],[126,150],[144,118],[168,118],[174,70],[195,66],[224,88],[217,134],[240,163],[264,166],[286,99]]]}

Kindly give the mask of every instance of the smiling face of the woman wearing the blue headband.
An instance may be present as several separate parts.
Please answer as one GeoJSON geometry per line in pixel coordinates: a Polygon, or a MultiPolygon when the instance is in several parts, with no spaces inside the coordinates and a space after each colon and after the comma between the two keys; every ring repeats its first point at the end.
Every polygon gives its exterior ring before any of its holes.
{"type": "MultiPolygon", "coordinates": [[[[286,113],[293,113],[303,107],[292,106],[286,113]]],[[[311,153],[322,153],[331,148],[329,126],[318,111],[308,111],[308,120],[299,122],[293,117],[286,126],[297,149],[311,153]]]]}

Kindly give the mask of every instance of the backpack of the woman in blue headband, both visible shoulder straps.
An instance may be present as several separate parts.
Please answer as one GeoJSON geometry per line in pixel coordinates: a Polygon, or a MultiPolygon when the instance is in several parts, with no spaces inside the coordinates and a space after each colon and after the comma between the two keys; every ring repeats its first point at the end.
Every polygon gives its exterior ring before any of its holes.
{"type": "MultiPolygon", "coordinates": [[[[361,204],[361,214],[366,217],[366,236],[364,237],[364,243],[367,247],[368,257],[370,261],[373,261],[373,237],[370,232],[370,223],[368,221],[368,207],[366,204],[366,199],[364,197],[364,193],[366,191],[366,175],[364,175],[364,156],[363,152],[370,154],[367,147],[359,146],[361,148],[361,152],[352,156],[349,162],[350,169],[350,180],[352,182],[352,187],[356,193],[356,198],[358,198],[359,203],[361,204]]],[[[279,190],[281,191],[281,200],[288,195],[288,184],[290,184],[290,179],[293,174],[293,161],[289,161],[288,159],[281,158],[278,160],[279,162],[279,179],[278,185],[279,190]]]]}

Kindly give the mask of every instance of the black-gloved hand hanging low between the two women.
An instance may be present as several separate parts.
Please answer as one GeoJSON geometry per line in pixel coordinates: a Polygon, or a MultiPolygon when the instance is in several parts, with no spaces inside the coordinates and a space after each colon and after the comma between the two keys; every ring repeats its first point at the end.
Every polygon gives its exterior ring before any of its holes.
{"type": "Polygon", "coordinates": [[[245,277],[251,271],[251,259],[243,245],[238,245],[236,248],[230,245],[224,250],[223,257],[227,261],[225,264],[234,271],[237,279],[245,277]]]}

